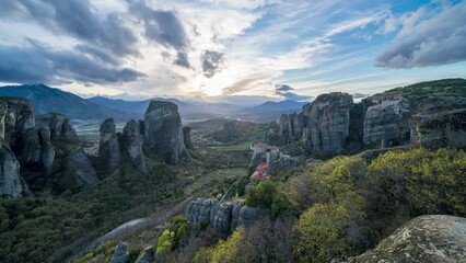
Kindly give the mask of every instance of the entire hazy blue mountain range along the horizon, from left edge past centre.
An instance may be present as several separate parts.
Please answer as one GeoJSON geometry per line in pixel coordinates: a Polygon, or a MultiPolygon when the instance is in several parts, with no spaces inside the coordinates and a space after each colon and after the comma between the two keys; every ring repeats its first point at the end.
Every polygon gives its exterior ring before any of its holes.
{"type": "MultiPolygon", "coordinates": [[[[151,100],[125,101],[105,96],[83,99],[77,94],[50,88],[45,84],[23,84],[0,87],[0,96],[20,96],[32,101],[36,115],[60,112],[71,119],[102,121],[113,117],[117,121],[141,118],[151,100]]],[[[177,99],[154,98],[178,105],[183,118],[205,119],[231,117],[268,122],[283,113],[300,111],[306,104],[295,101],[268,101],[244,107],[229,103],[185,102],[177,99]]]]}

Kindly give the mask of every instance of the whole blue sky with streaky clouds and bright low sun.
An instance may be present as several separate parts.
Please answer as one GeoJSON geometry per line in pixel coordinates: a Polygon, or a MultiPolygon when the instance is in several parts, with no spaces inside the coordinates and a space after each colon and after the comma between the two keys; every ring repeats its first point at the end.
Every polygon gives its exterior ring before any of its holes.
{"type": "Polygon", "coordinates": [[[466,1],[0,1],[0,84],[246,103],[442,78],[466,78],[466,1]]]}

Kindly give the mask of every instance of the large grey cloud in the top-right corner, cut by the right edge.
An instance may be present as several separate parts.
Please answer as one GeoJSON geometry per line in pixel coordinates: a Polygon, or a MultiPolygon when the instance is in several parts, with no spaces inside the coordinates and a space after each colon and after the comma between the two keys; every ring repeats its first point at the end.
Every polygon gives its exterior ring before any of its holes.
{"type": "Polygon", "coordinates": [[[413,68],[466,60],[466,2],[420,22],[398,36],[376,59],[376,66],[413,68]]]}

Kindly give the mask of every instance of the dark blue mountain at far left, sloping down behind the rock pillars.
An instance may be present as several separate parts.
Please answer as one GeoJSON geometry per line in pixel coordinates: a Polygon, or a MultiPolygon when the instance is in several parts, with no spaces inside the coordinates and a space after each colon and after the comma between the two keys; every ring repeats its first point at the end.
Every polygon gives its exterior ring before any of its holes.
{"type": "Polygon", "coordinates": [[[73,93],[45,84],[0,87],[0,96],[20,96],[31,100],[36,116],[46,113],[62,113],[72,119],[104,119],[132,117],[124,111],[92,103],[73,93]]]}

